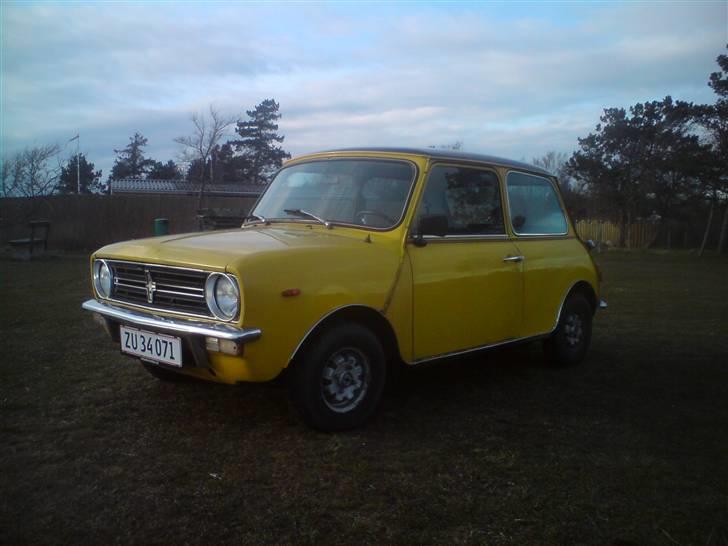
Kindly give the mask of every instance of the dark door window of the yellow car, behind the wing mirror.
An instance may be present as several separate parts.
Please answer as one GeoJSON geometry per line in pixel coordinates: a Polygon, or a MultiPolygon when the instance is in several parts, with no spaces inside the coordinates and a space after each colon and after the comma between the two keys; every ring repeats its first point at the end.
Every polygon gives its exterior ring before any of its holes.
{"type": "Polygon", "coordinates": [[[436,165],[418,214],[440,217],[447,235],[505,234],[498,177],[492,171],[436,165]]]}

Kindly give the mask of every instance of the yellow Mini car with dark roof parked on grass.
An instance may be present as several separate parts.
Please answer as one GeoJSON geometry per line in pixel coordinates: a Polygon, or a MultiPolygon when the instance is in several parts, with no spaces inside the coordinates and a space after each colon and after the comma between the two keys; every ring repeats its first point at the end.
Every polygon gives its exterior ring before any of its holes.
{"type": "Polygon", "coordinates": [[[434,149],[287,162],[238,229],[106,246],[83,307],[155,376],[286,372],[302,419],[361,425],[394,366],[544,340],[584,357],[597,270],[556,179],[434,149]]]}

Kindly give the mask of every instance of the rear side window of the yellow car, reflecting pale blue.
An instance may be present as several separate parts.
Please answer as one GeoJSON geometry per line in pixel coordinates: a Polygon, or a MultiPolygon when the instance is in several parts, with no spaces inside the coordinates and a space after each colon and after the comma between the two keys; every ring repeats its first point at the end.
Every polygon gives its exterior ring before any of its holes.
{"type": "Polygon", "coordinates": [[[547,179],[511,172],[506,181],[511,225],[517,235],[564,235],[566,217],[547,179]]]}

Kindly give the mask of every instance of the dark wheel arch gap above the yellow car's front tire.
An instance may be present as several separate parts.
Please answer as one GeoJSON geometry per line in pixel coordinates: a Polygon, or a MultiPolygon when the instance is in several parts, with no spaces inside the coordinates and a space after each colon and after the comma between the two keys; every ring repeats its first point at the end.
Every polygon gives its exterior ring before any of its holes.
{"type": "Polygon", "coordinates": [[[388,363],[401,359],[397,335],[387,318],[372,307],[354,304],[338,307],[321,317],[303,336],[288,359],[287,366],[290,367],[306,347],[315,342],[323,332],[337,324],[347,322],[361,324],[371,330],[381,342],[388,363]]]}

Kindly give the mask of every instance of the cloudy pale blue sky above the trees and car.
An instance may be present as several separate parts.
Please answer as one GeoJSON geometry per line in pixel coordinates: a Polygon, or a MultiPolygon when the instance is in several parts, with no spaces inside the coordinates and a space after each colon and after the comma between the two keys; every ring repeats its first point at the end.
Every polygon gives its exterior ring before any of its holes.
{"type": "Polygon", "coordinates": [[[0,157],[71,155],[80,134],[106,178],[135,132],[177,160],[194,112],[274,98],[294,156],[460,141],[530,161],[570,154],[604,108],[714,102],[728,0],[0,0],[0,31],[0,157]]]}

